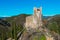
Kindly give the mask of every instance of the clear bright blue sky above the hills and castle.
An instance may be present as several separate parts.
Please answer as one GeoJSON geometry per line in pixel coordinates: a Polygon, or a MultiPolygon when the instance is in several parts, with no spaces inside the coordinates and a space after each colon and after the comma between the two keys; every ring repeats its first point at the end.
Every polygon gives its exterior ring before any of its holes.
{"type": "Polygon", "coordinates": [[[0,17],[33,14],[33,7],[43,8],[43,15],[60,14],[60,0],[0,0],[0,17]]]}

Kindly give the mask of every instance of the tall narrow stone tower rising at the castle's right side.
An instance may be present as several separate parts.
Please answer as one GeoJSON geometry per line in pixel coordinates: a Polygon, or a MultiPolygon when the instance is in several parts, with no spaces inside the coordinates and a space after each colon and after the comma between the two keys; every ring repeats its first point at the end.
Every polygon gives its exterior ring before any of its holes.
{"type": "Polygon", "coordinates": [[[37,25],[41,27],[42,26],[42,7],[40,8],[34,7],[34,18],[38,23],[37,25]]]}

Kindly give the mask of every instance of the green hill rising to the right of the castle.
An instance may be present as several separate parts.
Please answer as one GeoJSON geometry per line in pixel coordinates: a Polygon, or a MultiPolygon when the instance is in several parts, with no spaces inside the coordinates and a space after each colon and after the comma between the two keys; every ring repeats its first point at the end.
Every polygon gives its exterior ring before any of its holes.
{"type": "Polygon", "coordinates": [[[60,15],[54,15],[48,18],[48,25],[47,27],[60,34],[60,15]],[[49,19],[49,20],[48,20],[49,19]]]}

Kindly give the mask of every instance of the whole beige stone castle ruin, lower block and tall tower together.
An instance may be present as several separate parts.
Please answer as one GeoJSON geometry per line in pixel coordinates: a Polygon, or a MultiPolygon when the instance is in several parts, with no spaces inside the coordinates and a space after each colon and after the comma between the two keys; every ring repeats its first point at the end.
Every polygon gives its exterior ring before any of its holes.
{"type": "Polygon", "coordinates": [[[42,26],[42,7],[34,7],[34,13],[26,17],[25,27],[27,30],[36,30],[42,26]]]}

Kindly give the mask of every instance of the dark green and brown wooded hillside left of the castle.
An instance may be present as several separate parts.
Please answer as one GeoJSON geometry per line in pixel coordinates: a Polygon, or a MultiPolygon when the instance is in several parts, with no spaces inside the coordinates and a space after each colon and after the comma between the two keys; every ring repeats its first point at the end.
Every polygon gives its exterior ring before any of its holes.
{"type": "MultiPolygon", "coordinates": [[[[18,32],[20,32],[23,29],[23,25],[25,23],[25,18],[29,16],[26,14],[21,14],[18,16],[12,16],[12,17],[8,17],[8,18],[4,18],[4,22],[1,22],[0,24],[0,39],[3,37],[5,40],[6,38],[12,37],[14,38],[14,35],[16,36],[16,34],[18,34],[18,32]],[[5,26],[2,25],[9,23],[10,26],[5,26]],[[14,34],[16,32],[16,34],[14,34]]],[[[1,20],[0,20],[1,21],[1,20]]]]}

